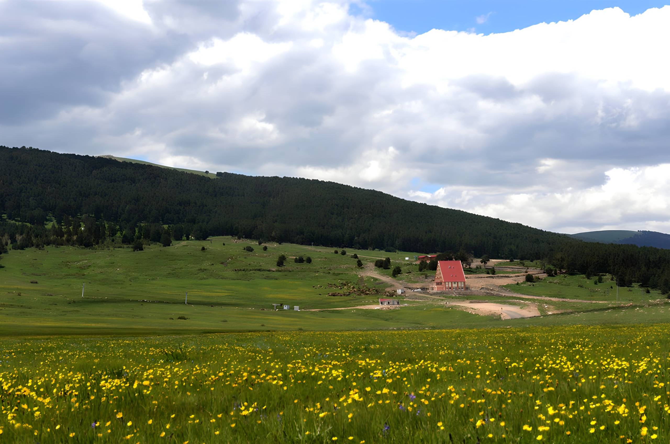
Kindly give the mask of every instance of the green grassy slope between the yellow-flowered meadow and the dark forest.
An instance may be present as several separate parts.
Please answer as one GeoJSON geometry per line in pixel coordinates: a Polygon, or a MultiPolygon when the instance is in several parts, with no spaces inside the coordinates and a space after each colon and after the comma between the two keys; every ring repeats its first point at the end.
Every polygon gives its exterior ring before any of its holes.
{"type": "MultiPolygon", "coordinates": [[[[403,271],[417,265],[404,261],[412,252],[375,252],[347,250],[334,254],[330,248],[294,244],[269,244],[268,251],[255,243],[232,243],[231,239],[214,238],[212,242],[182,241],[163,248],[147,246],[142,252],[128,248],[88,250],[73,247],[44,250],[30,248],[3,255],[0,269],[0,335],[40,334],[184,334],[207,331],[291,330],[291,329],[383,329],[417,327],[486,327],[496,325],[531,325],[545,323],[595,323],[619,321],[601,305],[549,303],[546,310],[584,310],[580,318],[551,315],[536,319],[500,321],[494,317],[472,315],[438,303],[404,301],[409,307],[400,310],[344,309],[332,311],[272,311],[272,303],[299,305],[302,309],[355,307],[377,303],[376,295],[328,297],[328,284],[365,282],[372,287],[374,278],[358,277],[356,252],[364,263],[390,256],[392,266],[403,271]],[[224,246],[222,243],[226,242],[224,246]],[[251,245],[254,252],[246,252],[251,245]],[[201,251],[202,246],[206,247],[201,251]],[[275,270],[277,256],[286,254],[287,265],[275,270]],[[311,256],[312,264],[295,264],[293,256],[311,256]],[[31,283],[37,281],[37,283],[31,283]],[[81,297],[86,283],[85,297],[81,297]],[[188,305],[184,293],[188,291],[188,305]],[[20,295],[19,295],[20,293],[20,295]],[[188,319],[177,319],[185,316],[188,319]]],[[[389,271],[379,271],[390,273],[389,271]]],[[[404,274],[405,280],[423,279],[418,273],[404,274]]],[[[534,286],[512,285],[511,289],[531,295],[572,297],[614,301],[614,293],[594,293],[592,281],[583,277],[560,277],[565,285],[551,283],[551,278],[534,286]],[[585,288],[577,287],[582,284],[585,288]]],[[[383,287],[380,285],[379,288],[383,287]]],[[[609,282],[598,290],[609,288],[609,282]]],[[[407,295],[405,295],[407,296],[407,295]]],[[[409,293],[411,296],[411,293],[409,293]]],[[[469,297],[473,299],[472,297],[469,297]]],[[[482,297],[500,303],[506,298],[482,297]]],[[[620,289],[620,300],[643,303],[658,299],[641,289],[620,289]]],[[[478,299],[474,297],[474,299],[478,299]]],[[[634,321],[663,319],[663,307],[649,308],[649,316],[639,316],[631,307],[634,321]],[[661,310],[661,311],[659,311],[661,310]]]]}

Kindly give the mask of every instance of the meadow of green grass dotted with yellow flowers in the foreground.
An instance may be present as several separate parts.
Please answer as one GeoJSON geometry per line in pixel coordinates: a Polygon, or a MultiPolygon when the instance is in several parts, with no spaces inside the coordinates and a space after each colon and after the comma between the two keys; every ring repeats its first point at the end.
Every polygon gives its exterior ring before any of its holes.
{"type": "Polygon", "coordinates": [[[667,325],[2,340],[7,443],[667,443],[667,325]]]}

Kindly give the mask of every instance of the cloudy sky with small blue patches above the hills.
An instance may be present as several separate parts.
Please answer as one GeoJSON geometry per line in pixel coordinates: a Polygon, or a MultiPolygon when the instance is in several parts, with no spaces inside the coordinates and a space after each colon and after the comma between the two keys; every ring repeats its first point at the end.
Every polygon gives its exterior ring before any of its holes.
{"type": "Polygon", "coordinates": [[[670,232],[669,24],[645,0],[0,0],[0,144],[670,232]]]}

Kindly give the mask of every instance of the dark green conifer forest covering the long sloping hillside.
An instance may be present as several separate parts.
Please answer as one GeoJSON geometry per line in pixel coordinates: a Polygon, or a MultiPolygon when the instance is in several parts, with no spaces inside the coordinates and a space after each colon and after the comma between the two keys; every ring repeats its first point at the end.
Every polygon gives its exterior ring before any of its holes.
{"type": "Polygon", "coordinates": [[[544,259],[561,269],[614,273],[623,283],[670,291],[670,252],[665,250],[586,243],[312,179],[223,173],[212,180],[103,157],[0,147],[0,214],[6,218],[0,222],[2,249],[227,234],[324,246],[544,259]],[[55,221],[46,228],[49,218],[55,221]]]}

